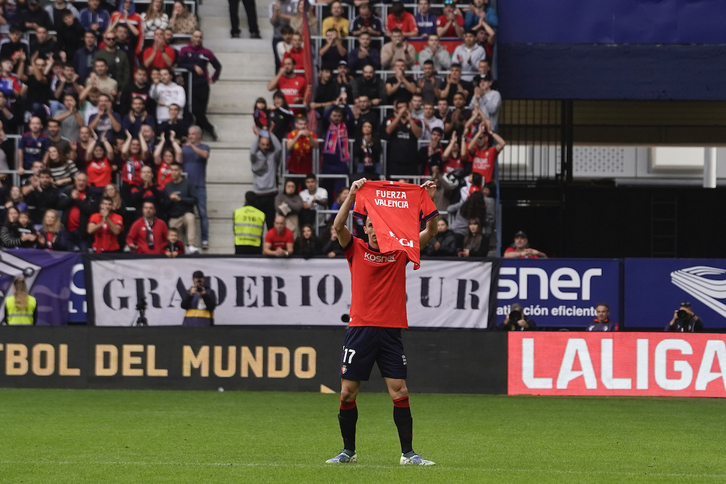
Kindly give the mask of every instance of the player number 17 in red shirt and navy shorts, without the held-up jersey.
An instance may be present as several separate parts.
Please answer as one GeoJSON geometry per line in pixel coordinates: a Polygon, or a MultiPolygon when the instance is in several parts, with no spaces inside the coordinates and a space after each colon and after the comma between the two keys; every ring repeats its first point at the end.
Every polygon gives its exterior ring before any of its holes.
{"type": "MultiPolygon", "coordinates": [[[[362,380],[368,380],[373,364],[378,363],[386,381],[388,393],[393,399],[393,420],[401,441],[403,465],[434,465],[413,451],[413,419],[408,403],[406,387],[406,357],[403,352],[401,330],[408,328],[406,317],[406,264],[404,251],[379,251],[376,231],[370,218],[366,218],[365,232],[368,243],[353,237],[346,226],[348,214],[355,202],[356,192],[366,183],[365,178],[353,182],[348,197],[335,216],[333,227],[338,242],[345,252],[351,274],[352,299],[350,325],[343,344],[340,367],[340,433],[343,451],[329,464],[357,462],[355,453],[355,429],[358,421],[356,397],[362,380]]],[[[428,196],[433,199],[436,184],[427,181],[428,196]]],[[[427,203],[432,204],[430,200],[427,203]]],[[[411,207],[420,210],[419,206],[411,207]]],[[[420,247],[438,232],[435,209],[426,221],[426,229],[419,233],[420,247]]],[[[418,228],[416,228],[418,230],[418,228]]]]}

